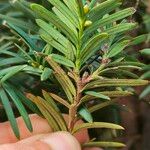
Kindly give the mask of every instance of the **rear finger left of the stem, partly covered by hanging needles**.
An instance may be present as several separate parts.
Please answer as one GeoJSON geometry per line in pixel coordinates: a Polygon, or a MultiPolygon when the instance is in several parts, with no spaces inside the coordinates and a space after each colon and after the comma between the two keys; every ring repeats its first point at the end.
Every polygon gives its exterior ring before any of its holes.
{"type": "MultiPolygon", "coordinates": [[[[30,120],[33,126],[32,133],[27,129],[22,117],[17,118],[17,124],[18,124],[19,130],[21,131],[20,132],[21,140],[31,137],[33,135],[46,134],[46,133],[52,132],[52,129],[48,125],[47,121],[39,117],[38,115],[35,115],[35,114],[30,115],[30,120]]],[[[0,123],[0,129],[1,129],[0,144],[14,143],[18,141],[18,139],[14,135],[14,132],[11,128],[10,122],[7,121],[4,123],[0,123]]]]}

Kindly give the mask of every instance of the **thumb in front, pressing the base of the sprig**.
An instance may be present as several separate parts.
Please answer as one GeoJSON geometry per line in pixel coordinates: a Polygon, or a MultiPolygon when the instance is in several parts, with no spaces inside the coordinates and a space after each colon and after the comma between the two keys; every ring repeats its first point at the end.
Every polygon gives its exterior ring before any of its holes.
{"type": "Polygon", "coordinates": [[[81,150],[77,139],[68,132],[51,133],[35,141],[32,139],[32,142],[30,138],[24,140],[1,145],[0,150],[81,150]]]}

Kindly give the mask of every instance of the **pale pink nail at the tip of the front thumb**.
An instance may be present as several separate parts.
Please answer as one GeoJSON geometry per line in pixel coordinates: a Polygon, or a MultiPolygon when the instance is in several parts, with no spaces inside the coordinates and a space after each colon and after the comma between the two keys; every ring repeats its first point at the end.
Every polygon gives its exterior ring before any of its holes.
{"type": "Polygon", "coordinates": [[[81,150],[76,138],[68,132],[52,133],[40,141],[48,144],[51,150],[81,150]]]}

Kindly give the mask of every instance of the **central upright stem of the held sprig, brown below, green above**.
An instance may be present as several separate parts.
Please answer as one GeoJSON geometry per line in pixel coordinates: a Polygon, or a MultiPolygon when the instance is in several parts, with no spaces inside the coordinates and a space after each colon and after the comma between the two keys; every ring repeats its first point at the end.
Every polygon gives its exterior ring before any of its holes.
{"type": "Polygon", "coordinates": [[[74,102],[71,105],[69,109],[69,124],[68,129],[71,132],[74,128],[74,125],[77,121],[77,109],[80,104],[81,100],[81,89],[82,89],[82,79],[80,78],[80,67],[81,67],[81,60],[80,60],[80,52],[81,52],[81,46],[82,46],[82,36],[84,31],[84,23],[85,23],[85,16],[84,16],[84,10],[83,10],[83,4],[81,0],[77,0],[79,3],[79,32],[78,32],[78,44],[76,45],[77,53],[76,53],[76,61],[75,61],[75,74],[76,74],[76,86],[77,86],[77,93],[74,97],[74,102]]]}

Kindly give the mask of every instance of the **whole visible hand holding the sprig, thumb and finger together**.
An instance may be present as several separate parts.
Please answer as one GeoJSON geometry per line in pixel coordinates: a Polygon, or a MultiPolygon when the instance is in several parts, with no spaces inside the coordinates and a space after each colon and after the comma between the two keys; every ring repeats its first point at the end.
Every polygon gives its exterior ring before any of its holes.
{"type": "MultiPolygon", "coordinates": [[[[68,116],[64,115],[67,122],[68,116]]],[[[87,130],[82,130],[72,136],[68,132],[55,132],[46,120],[37,116],[30,116],[33,132],[26,128],[22,118],[17,118],[21,131],[20,140],[16,139],[9,122],[0,123],[0,150],[81,150],[80,144],[89,140],[87,130]]],[[[82,123],[78,121],[77,124],[82,123]]],[[[100,148],[86,148],[84,150],[102,150],[100,148]]]]}

